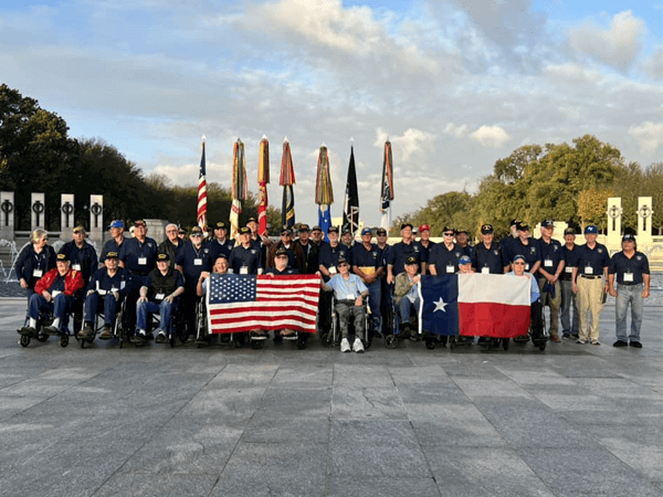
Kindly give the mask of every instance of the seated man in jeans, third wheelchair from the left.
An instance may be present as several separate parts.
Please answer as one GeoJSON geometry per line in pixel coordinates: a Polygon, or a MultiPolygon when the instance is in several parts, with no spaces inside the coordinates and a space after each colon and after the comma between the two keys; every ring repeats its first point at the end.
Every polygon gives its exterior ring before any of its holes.
{"type": "Polygon", "coordinates": [[[185,278],[179,271],[170,267],[168,254],[157,254],[157,267],[144,279],[140,287],[140,298],[136,304],[136,343],[147,341],[147,319],[159,313],[161,322],[156,330],[155,341],[168,341],[168,331],[172,322],[175,299],[185,293],[185,278]]]}

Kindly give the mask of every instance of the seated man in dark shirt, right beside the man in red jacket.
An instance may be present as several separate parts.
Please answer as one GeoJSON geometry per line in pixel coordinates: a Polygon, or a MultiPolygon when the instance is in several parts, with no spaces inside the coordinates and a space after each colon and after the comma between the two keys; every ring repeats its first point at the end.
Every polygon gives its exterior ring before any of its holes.
{"type": "Polygon", "coordinates": [[[117,304],[130,290],[128,273],[118,266],[117,252],[107,252],[104,265],[97,269],[87,285],[85,296],[85,325],[78,332],[78,338],[92,338],[96,331],[96,314],[99,300],[104,303],[104,327],[99,338],[109,340],[113,338],[113,324],[117,315],[117,304]]]}

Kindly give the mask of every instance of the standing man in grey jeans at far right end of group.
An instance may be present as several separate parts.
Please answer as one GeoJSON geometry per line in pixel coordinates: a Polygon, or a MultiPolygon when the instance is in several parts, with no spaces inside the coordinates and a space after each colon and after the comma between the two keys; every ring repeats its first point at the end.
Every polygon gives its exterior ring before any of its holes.
{"type": "Polygon", "coordinates": [[[610,260],[608,287],[610,295],[617,297],[614,306],[617,341],[613,346],[625,347],[629,345],[628,338],[631,347],[641,349],[642,300],[650,296],[650,269],[646,255],[636,251],[635,236],[632,234],[622,237],[622,251],[610,260]],[[617,289],[614,289],[615,275],[617,289]],[[629,304],[631,304],[631,332],[627,337],[629,304]]]}

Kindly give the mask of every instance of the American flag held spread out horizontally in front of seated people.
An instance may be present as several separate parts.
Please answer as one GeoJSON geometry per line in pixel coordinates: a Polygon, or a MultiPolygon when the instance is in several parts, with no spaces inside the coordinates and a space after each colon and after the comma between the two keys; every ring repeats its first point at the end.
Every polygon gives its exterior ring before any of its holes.
{"type": "Polygon", "coordinates": [[[315,332],[320,292],[316,275],[210,275],[212,334],[292,329],[315,332]]]}

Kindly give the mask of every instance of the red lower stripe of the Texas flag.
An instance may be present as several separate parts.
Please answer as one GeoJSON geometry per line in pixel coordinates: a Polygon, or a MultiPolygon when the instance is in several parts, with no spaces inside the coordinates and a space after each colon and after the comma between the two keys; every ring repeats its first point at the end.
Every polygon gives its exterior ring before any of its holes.
{"type": "Polygon", "coordinates": [[[529,306],[459,302],[459,316],[465,337],[513,338],[529,328],[529,306]]]}

